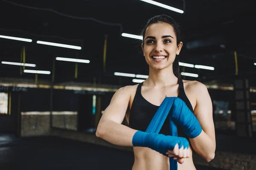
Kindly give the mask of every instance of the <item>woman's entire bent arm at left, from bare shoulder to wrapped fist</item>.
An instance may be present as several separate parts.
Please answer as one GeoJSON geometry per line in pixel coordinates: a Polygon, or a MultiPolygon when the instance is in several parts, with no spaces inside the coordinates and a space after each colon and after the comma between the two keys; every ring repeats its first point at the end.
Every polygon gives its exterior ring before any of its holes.
{"type": "MultiPolygon", "coordinates": [[[[131,86],[125,86],[116,91],[111,99],[110,104],[105,109],[102,118],[99,121],[99,125],[96,130],[97,137],[118,146],[133,146],[134,134],[138,130],[131,129],[130,127],[121,124],[123,119],[125,118],[125,113],[127,111],[130,101],[130,94],[131,86]]],[[[147,136],[148,135],[150,135],[150,133],[148,133],[147,136]]],[[[143,143],[145,142],[147,143],[146,147],[148,147],[149,145],[149,147],[152,148],[153,146],[154,150],[160,152],[162,151],[161,147],[169,147],[169,145],[175,145],[177,142],[183,141],[182,138],[176,139],[177,137],[174,137],[175,139],[172,139],[172,136],[166,136],[166,138],[163,139],[163,135],[160,136],[160,139],[157,139],[157,136],[160,135],[153,134],[153,136],[149,136],[149,138],[146,138],[145,136],[143,137],[142,135],[139,136],[139,140],[137,140],[137,136],[135,137],[135,144],[139,142],[139,146],[144,147],[143,143]],[[150,140],[151,138],[153,140],[150,140]],[[147,140],[149,140],[149,142],[147,142],[147,140]]],[[[174,150],[169,150],[169,156],[178,158],[177,161],[182,164],[183,158],[187,158],[188,153],[184,152],[184,150],[182,149],[183,147],[179,149],[179,146],[177,144],[175,145],[175,147],[173,146],[173,148],[174,150]]],[[[168,154],[166,156],[168,156],[168,154]]]]}

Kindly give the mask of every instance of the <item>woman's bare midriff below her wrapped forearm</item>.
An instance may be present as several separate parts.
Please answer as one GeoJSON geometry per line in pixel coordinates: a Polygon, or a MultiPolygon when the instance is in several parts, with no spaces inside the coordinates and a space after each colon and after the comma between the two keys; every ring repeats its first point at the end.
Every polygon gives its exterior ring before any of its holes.
{"type": "MultiPolygon", "coordinates": [[[[190,157],[184,159],[183,164],[178,164],[178,170],[196,170],[192,160],[192,150],[189,148],[190,157]]],[[[170,170],[169,158],[147,147],[134,147],[134,165],[132,170],[170,170]]]]}

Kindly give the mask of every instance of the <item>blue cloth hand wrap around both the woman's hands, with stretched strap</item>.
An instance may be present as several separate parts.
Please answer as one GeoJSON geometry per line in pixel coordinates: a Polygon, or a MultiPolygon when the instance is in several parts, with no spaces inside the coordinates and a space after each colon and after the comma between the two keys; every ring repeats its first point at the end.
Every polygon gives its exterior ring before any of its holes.
{"type": "MultiPolygon", "coordinates": [[[[195,138],[201,131],[201,125],[197,118],[178,97],[166,97],[157,109],[154,117],[152,118],[146,132],[137,131],[132,139],[134,146],[149,147],[156,150],[163,155],[166,155],[167,150],[173,150],[175,144],[178,143],[179,148],[189,147],[189,142],[186,138],[177,137],[176,123],[183,127],[183,132],[189,136],[189,138],[195,138]],[[170,122],[170,135],[165,136],[158,134],[163,126],[166,117],[169,115],[170,122]]],[[[170,169],[177,170],[177,161],[173,158],[169,159],[170,169]]]]}

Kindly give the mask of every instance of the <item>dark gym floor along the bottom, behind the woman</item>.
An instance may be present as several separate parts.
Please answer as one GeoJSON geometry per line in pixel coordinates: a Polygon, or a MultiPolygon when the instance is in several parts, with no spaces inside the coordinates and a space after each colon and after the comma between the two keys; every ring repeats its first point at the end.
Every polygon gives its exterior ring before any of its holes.
{"type": "Polygon", "coordinates": [[[131,170],[133,161],[129,151],[60,137],[17,138],[0,133],[0,170],[131,170]]]}

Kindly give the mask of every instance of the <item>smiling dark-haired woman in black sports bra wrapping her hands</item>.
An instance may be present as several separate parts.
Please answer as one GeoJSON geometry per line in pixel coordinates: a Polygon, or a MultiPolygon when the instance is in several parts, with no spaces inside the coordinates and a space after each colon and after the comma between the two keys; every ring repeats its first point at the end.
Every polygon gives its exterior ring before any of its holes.
{"type": "Polygon", "coordinates": [[[133,170],[195,170],[192,148],[205,161],[215,156],[212,102],[205,85],[181,79],[182,45],[172,17],[148,20],[141,44],[148,78],[116,91],[99,122],[96,136],[133,147],[133,170]],[[121,124],[125,117],[129,127],[121,124]]]}

